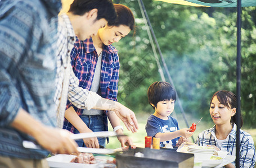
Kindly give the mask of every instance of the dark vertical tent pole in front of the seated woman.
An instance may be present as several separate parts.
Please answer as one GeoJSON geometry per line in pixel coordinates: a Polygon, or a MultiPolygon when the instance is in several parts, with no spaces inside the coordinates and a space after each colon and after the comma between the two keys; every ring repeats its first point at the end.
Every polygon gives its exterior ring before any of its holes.
{"type": "Polygon", "coordinates": [[[240,167],[240,124],[241,119],[241,0],[237,0],[237,58],[236,58],[236,167],[240,167]]]}

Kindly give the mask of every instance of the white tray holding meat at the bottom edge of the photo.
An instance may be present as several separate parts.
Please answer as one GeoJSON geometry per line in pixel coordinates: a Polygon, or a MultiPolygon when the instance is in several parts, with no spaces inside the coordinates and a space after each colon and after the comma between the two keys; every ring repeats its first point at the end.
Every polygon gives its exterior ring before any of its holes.
{"type": "Polygon", "coordinates": [[[46,158],[48,165],[51,168],[98,168],[101,167],[100,164],[78,164],[71,163],[72,158],[76,157],[75,155],[64,155],[59,154],[46,158]]]}

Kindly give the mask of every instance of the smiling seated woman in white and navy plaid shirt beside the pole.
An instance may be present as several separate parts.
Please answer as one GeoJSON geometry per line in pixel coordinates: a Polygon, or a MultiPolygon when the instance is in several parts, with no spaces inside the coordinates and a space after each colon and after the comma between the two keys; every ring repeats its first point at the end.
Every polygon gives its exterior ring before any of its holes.
{"type": "MultiPolygon", "coordinates": [[[[204,130],[196,139],[200,146],[213,146],[216,150],[236,155],[236,95],[230,91],[217,91],[210,101],[210,116],[214,127],[204,130]]],[[[249,133],[240,129],[240,167],[254,167],[255,146],[249,133]]],[[[235,167],[235,161],[225,167],[235,167]]]]}

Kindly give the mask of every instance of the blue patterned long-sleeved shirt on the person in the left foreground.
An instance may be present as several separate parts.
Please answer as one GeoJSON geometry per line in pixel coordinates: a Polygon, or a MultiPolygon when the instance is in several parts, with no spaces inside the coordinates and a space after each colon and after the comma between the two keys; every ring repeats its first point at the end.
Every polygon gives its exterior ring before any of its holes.
{"type": "Polygon", "coordinates": [[[49,153],[24,148],[23,141],[32,137],[10,124],[23,108],[44,125],[56,126],[53,97],[60,8],[60,0],[0,1],[1,156],[41,159],[49,153]]]}

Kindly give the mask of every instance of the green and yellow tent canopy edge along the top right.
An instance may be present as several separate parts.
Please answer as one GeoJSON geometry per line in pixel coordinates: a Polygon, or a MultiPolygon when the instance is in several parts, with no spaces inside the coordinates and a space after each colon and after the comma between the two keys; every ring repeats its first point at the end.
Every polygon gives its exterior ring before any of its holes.
{"type": "MultiPolygon", "coordinates": [[[[155,0],[196,7],[236,7],[237,0],[155,0]]],[[[242,7],[256,6],[256,0],[242,0],[242,7]]]]}

